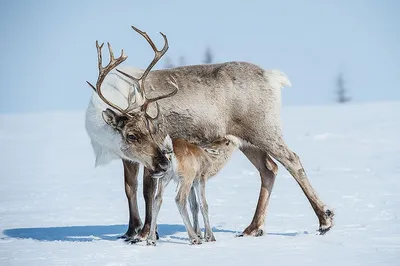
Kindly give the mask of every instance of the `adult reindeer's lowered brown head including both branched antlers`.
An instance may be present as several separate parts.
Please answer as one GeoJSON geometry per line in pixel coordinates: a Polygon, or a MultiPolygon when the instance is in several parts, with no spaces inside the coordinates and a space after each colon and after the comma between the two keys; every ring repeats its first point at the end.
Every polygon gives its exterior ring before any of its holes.
{"type": "Polygon", "coordinates": [[[93,86],[89,82],[87,83],[93,88],[99,97],[111,107],[103,111],[103,119],[109,126],[113,127],[114,130],[121,134],[122,143],[120,149],[124,156],[130,160],[141,162],[146,166],[146,168],[152,170],[153,172],[165,171],[168,167],[169,161],[161,152],[158,142],[156,141],[160,116],[160,109],[157,101],[175,95],[178,92],[178,86],[175,79],[172,77],[172,79],[169,80],[169,83],[174,87],[174,90],[171,93],[149,99],[145,94],[144,81],[150,70],[167,52],[168,40],[167,37],[161,33],[165,44],[163,49],[159,51],[145,32],[140,31],[133,26],[132,28],[147,40],[147,42],[153,48],[155,55],[153,61],[149,64],[140,78],[135,78],[117,69],[119,73],[131,79],[132,81],[131,85],[133,86],[133,90],[131,90],[131,93],[129,93],[127,97],[128,107],[123,109],[118,105],[108,101],[101,92],[101,84],[107,74],[126,60],[127,56],[124,55],[123,50],[121,52],[121,56],[115,59],[111,46],[108,43],[110,62],[107,66],[103,67],[101,52],[103,44],[99,45],[96,41],[99,76],[96,86],[93,86]],[[151,117],[147,113],[149,104],[152,102],[154,102],[157,107],[157,114],[154,117],[151,117]]]}

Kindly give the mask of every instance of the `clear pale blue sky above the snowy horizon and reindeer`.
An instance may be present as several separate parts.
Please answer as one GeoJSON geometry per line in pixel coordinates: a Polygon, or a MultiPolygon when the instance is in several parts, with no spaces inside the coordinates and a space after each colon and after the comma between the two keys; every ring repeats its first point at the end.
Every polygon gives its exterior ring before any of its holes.
{"type": "MultiPolygon", "coordinates": [[[[358,102],[400,100],[400,1],[55,1],[3,0],[0,112],[83,110],[95,82],[95,41],[124,48],[144,68],[153,54],[130,25],[167,55],[249,61],[285,72],[285,105],[329,104],[344,73],[358,102]]],[[[163,67],[161,61],[158,68],[163,67]]]]}

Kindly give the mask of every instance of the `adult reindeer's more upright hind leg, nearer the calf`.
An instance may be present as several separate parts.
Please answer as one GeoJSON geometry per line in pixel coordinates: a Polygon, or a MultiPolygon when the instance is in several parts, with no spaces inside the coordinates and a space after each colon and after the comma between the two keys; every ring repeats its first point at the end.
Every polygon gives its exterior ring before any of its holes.
{"type": "Polygon", "coordinates": [[[244,146],[241,148],[241,151],[260,172],[261,189],[253,220],[239,236],[261,236],[264,234],[262,228],[264,226],[268,202],[275,182],[275,177],[278,173],[278,166],[267,153],[253,146],[244,146]]]}

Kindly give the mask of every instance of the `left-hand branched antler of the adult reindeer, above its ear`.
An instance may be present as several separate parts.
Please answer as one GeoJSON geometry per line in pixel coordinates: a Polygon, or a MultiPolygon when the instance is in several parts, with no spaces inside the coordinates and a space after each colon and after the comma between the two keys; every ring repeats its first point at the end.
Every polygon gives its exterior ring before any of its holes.
{"type": "Polygon", "coordinates": [[[96,91],[96,93],[99,95],[100,99],[102,99],[106,104],[108,104],[109,106],[115,108],[116,110],[118,110],[119,112],[126,114],[126,110],[123,110],[122,108],[120,108],[119,106],[113,104],[112,102],[108,101],[104,95],[101,92],[101,84],[104,81],[104,78],[107,76],[107,74],[113,70],[115,67],[117,67],[119,64],[121,64],[122,62],[124,62],[128,57],[126,55],[124,55],[124,50],[121,50],[121,55],[115,59],[114,58],[114,53],[112,51],[111,45],[110,43],[107,43],[108,45],[108,51],[110,53],[110,62],[107,64],[107,66],[103,67],[103,62],[102,62],[102,52],[101,49],[103,48],[104,43],[102,43],[101,45],[99,45],[99,42],[96,41],[96,49],[97,49],[97,59],[98,59],[98,67],[99,67],[99,76],[97,78],[97,82],[96,82],[96,87],[93,86],[89,81],[86,81],[90,87],[92,87],[92,89],[94,89],[96,91]]]}

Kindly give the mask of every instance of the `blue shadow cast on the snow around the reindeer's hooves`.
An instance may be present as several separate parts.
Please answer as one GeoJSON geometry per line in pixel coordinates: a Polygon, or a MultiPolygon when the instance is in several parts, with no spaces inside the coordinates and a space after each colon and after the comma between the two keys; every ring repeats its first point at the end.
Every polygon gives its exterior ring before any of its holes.
{"type": "MultiPolygon", "coordinates": [[[[10,238],[34,239],[40,241],[70,241],[91,242],[94,240],[115,241],[125,233],[126,225],[85,225],[65,227],[37,227],[6,229],[3,234],[10,238]]],[[[237,234],[237,231],[213,228],[215,233],[237,234]]],[[[175,233],[186,232],[185,226],[180,224],[159,224],[160,237],[167,237],[175,233]]],[[[296,236],[307,232],[268,233],[267,235],[296,236]]]]}

